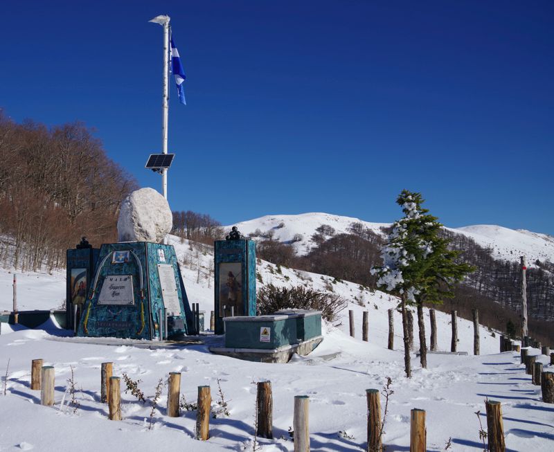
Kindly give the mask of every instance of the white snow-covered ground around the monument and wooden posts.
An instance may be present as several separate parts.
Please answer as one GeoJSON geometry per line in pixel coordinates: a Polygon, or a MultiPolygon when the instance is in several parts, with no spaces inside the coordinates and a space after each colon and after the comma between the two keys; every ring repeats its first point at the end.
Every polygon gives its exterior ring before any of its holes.
{"type": "MultiPolygon", "coordinates": [[[[244,233],[244,230],[242,230],[244,233]]],[[[179,259],[190,302],[201,309],[213,309],[210,248],[172,239],[179,259]],[[198,264],[199,262],[199,264],[198,264]]],[[[355,311],[355,338],[348,336],[348,309],[336,325],[325,325],[324,341],[309,356],[295,357],[287,364],[262,364],[210,354],[204,345],[181,349],[145,350],[128,345],[108,346],[60,341],[55,331],[15,330],[0,335],[0,374],[6,373],[6,397],[0,394],[0,451],[190,451],[251,450],[256,381],[269,379],[274,392],[275,440],[260,440],[263,451],[292,451],[288,429],[292,426],[294,395],[310,396],[310,437],[314,451],[360,451],[366,442],[366,389],[393,381],[383,437],[386,451],[409,450],[410,410],[427,412],[427,450],[481,451],[479,420],[486,429],[484,400],[502,402],[504,432],[508,451],[553,451],[554,406],[542,403],[540,388],[519,364],[519,354],[498,353],[499,338],[481,327],[481,356],[472,356],[473,327],[458,320],[458,350],[467,356],[430,354],[428,368],[421,369],[412,355],[413,377],[403,370],[400,314],[395,314],[395,350],[387,350],[387,309],[395,299],[385,293],[364,290],[351,282],[262,262],[258,273],[262,284],[307,284],[315,289],[332,289],[348,300],[355,311]],[[369,311],[369,342],[361,341],[362,311],[369,311]],[[54,365],[56,392],[54,407],[39,405],[39,392],[30,390],[30,361],[42,358],[54,365]],[[180,371],[181,393],[195,401],[197,386],[210,385],[217,410],[217,379],[230,415],[211,419],[211,439],[197,442],[195,412],[184,411],[179,418],[166,417],[166,391],[148,430],[150,402],[143,405],[124,394],[123,421],[107,420],[107,406],[100,404],[100,363],[114,362],[114,374],[127,373],[140,379],[147,398],[154,395],[160,378],[180,371]],[[74,372],[79,408],[67,406],[64,396],[67,379],[74,372]],[[146,420],[145,420],[146,419],[146,420]],[[346,432],[346,435],[339,432],[346,432]]],[[[11,274],[0,271],[0,309],[11,307],[11,274]]],[[[57,307],[65,295],[63,273],[19,276],[19,293],[33,293],[26,309],[57,307]]],[[[258,282],[260,284],[260,282],[258,282]]],[[[23,296],[21,302],[24,302],[23,296]]],[[[425,310],[429,328],[429,316],[425,310]]],[[[437,312],[438,347],[449,350],[450,316],[437,312]]],[[[6,333],[6,328],[3,328],[6,333]]],[[[417,331],[415,332],[417,338],[417,331]]],[[[417,339],[416,339],[417,341],[417,339]]],[[[537,354],[537,350],[532,353],[537,354]]],[[[539,357],[545,364],[546,356],[539,357]]],[[[550,367],[552,368],[552,367],[550,367]]],[[[2,383],[3,384],[3,383],[2,383]]],[[[123,384],[123,383],[122,383],[123,384]]],[[[125,386],[123,385],[123,389],[125,386]]],[[[3,387],[2,387],[3,392],[3,387]]],[[[382,400],[384,404],[384,400],[382,400]]]]}

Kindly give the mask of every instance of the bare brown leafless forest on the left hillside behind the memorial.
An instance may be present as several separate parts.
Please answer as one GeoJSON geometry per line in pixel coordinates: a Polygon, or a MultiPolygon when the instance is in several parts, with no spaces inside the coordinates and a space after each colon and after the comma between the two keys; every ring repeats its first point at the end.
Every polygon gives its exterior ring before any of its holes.
{"type": "Polygon", "coordinates": [[[17,124],[0,111],[0,265],[51,270],[82,235],[114,241],[120,203],[136,188],[82,123],[17,124]]]}

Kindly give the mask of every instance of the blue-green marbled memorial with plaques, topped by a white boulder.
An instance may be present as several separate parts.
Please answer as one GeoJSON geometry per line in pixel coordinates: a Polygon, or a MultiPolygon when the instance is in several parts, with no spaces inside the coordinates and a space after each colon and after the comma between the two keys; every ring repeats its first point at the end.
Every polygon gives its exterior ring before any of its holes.
{"type": "Polygon", "coordinates": [[[193,315],[170,232],[168,201],[152,188],[120,208],[119,242],[102,244],[78,336],[165,339],[194,331],[193,315]]]}

